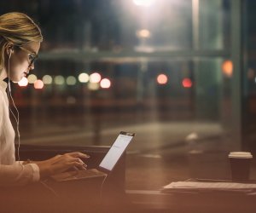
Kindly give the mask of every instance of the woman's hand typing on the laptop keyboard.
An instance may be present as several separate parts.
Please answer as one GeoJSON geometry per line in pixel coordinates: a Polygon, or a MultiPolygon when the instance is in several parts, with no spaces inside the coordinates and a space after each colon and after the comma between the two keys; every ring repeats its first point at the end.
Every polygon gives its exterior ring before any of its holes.
{"type": "Polygon", "coordinates": [[[86,164],[84,164],[81,158],[90,158],[90,156],[84,153],[75,152],[56,155],[54,158],[38,161],[36,164],[38,164],[40,170],[40,178],[53,176],[71,168],[86,170],[86,164]]]}

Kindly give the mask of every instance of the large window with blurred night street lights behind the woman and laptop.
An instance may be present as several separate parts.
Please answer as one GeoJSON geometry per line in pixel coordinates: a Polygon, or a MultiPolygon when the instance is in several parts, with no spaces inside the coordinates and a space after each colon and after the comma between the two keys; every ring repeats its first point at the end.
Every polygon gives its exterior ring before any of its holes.
{"type": "Polygon", "coordinates": [[[44,87],[14,89],[22,143],[111,145],[126,130],[128,189],[229,177],[230,0],[15,2],[2,11],[26,11],[44,34],[44,87]]]}

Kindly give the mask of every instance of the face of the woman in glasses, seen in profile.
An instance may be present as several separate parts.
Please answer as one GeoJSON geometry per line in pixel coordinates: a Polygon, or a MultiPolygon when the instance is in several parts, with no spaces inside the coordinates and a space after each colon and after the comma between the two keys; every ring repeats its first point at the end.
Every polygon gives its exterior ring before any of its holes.
{"type": "Polygon", "coordinates": [[[39,49],[39,42],[30,42],[22,47],[14,48],[6,66],[7,75],[11,81],[19,82],[21,78],[26,77],[34,69],[33,62],[38,56],[39,49]]]}

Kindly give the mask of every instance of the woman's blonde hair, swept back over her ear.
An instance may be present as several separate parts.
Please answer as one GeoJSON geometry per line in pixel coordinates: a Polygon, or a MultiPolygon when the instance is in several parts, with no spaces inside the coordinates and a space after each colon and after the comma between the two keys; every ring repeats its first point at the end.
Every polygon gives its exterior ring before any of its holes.
{"type": "Polygon", "coordinates": [[[4,67],[5,49],[8,43],[22,46],[29,42],[42,42],[39,26],[26,14],[17,12],[0,16],[0,73],[4,67]]]}

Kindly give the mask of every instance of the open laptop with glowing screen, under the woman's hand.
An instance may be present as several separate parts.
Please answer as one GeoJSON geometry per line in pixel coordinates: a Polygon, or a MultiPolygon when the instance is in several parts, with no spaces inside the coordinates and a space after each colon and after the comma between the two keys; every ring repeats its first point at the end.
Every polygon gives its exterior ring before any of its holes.
{"type": "Polygon", "coordinates": [[[128,147],[134,135],[134,133],[125,131],[119,132],[119,135],[113,142],[112,147],[110,147],[108,150],[108,153],[102,159],[102,162],[99,164],[98,168],[90,170],[67,171],[55,176],[51,176],[51,178],[55,181],[74,181],[85,178],[108,176],[119,161],[119,158],[125,152],[126,147],[128,147]]]}

